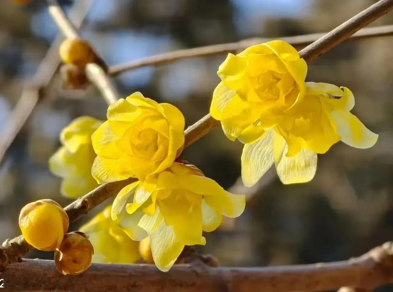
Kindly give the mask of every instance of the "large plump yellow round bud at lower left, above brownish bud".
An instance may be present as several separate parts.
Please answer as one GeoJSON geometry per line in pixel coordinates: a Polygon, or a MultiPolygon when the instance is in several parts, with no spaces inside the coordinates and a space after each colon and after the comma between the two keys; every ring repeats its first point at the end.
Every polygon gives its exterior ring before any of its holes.
{"type": "Polygon", "coordinates": [[[55,250],[67,232],[67,213],[53,200],[29,203],[20,210],[19,227],[24,239],[39,250],[55,250]]]}

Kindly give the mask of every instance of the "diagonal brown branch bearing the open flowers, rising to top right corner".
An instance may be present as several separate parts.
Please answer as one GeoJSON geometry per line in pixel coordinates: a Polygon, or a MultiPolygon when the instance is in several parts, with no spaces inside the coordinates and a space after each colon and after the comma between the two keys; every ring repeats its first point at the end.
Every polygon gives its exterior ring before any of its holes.
{"type": "MultiPolygon", "coordinates": [[[[387,11],[392,8],[393,0],[381,0],[377,2],[376,4],[365,9],[365,11],[362,13],[354,16],[343,25],[339,26],[340,29],[334,29],[320,40],[317,40],[316,42],[307,46],[300,52],[301,56],[305,58],[307,62],[314,60],[316,57],[321,55],[319,52],[327,52],[329,49],[340,44],[340,42],[343,42],[346,38],[348,38],[350,36],[349,31],[352,33],[356,32],[356,30],[359,30],[365,26],[364,23],[370,23],[371,20],[375,20],[377,16],[387,13],[387,11]]],[[[185,147],[191,145],[197,139],[200,139],[206,133],[208,133],[208,131],[213,128],[211,122],[213,122],[213,124],[217,124],[217,121],[215,122],[215,120],[212,119],[210,115],[207,115],[198,121],[195,125],[189,127],[185,131],[185,147]]],[[[71,215],[70,221],[83,216],[88,212],[88,210],[94,208],[97,206],[97,204],[102,203],[108,197],[116,195],[118,190],[130,181],[132,181],[132,179],[127,181],[107,183],[79,198],[77,201],[64,208],[67,210],[68,214],[71,215]],[[83,202],[85,200],[88,200],[87,207],[84,207],[83,202]]],[[[7,264],[18,261],[20,257],[26,254],[26,252],[29,250],[29,246],[26,241],[23,241],[22,239],[23,237],[20,236],[12,240],[6,240],[3,243],[3,245],[0,247],[0,267],[5,268],[7,264]]],[[[337,285],[336,287],[341,287],[344,285],[355,286],[348,282],[337,285]]]]}

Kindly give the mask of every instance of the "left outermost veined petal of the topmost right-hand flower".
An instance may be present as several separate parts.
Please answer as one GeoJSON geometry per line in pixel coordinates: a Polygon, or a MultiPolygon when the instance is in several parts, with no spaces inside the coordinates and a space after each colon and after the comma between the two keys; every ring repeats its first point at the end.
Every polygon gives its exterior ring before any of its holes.
{"type": "Polygon", "coordinates": [[[226,106],[235,95],[235,90],[231,90],[224,84],[224,82],[220,82],[213,91],[213,99],[210,104],[211,116],[216,120],[224,119],[226,106]]]}

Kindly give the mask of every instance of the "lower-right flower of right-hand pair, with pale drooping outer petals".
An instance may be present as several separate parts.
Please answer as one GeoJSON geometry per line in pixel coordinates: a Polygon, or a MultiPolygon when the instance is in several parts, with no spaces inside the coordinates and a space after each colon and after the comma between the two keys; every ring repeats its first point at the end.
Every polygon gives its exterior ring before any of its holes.
{"type": "Polygon", "coordinates": [[[274,127],[264,131],[255,124],[248,129],[243,139],[244,184],[255,184],[273,163],[284,184],[306,183],[316,172],[317,153],[325,153],[336,142],[356,148],[373,146],[378,135],[350,113],[353,106],[348,88],[307,82],[304,99],[277,113],[274,127]]]}

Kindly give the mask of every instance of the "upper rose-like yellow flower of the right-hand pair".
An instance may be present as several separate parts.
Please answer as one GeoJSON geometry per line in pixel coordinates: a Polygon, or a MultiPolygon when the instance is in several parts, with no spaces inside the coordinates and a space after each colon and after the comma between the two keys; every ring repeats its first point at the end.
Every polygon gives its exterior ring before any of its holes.
{"type": "Polygon", "coordinates": [[[255,123],[263,126],[254,133],[260,137],[275,123],[268,113],[291,108],[303,98],[306,74],[298,51],[281,40],[229,54],[219,67],[222,82],[214,90],[210,114],[232,141],[242,140],[255,123]]]}

